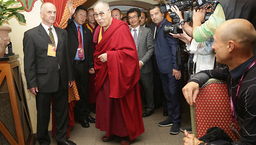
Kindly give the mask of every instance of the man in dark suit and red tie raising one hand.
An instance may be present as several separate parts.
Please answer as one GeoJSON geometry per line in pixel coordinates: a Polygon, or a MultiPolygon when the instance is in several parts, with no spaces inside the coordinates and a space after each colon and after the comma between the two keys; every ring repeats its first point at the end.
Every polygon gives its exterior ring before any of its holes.
{"type": "Polygon", "coordinates": [[[82,127],[89,127],[89,123],[95,123],[95,119],[89,115],[88,77],[94,74],[92,53],[92,32],[84,27],[87,18],[85,6],[73,8],[72,1],[68,1],[70,17],[66,28],[68,32],[68,50],[73,61],[75,83],[78,87],[80,100],[75,104],[75,116],[82,127]]]}

